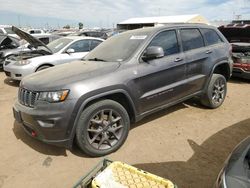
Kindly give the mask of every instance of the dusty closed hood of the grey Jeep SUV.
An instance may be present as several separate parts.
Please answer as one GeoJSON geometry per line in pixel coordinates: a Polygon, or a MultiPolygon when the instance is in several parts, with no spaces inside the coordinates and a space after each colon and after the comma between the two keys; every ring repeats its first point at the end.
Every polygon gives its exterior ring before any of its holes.
{"type": "Polygon", "coordinates": [[[68,84],[111,73],[118,62],[75,61],[36,72],[22,79],[20,87],[31,91],[70,89],[68,84]],[[67,87],[67,88],[65,88],[67,87]]]}

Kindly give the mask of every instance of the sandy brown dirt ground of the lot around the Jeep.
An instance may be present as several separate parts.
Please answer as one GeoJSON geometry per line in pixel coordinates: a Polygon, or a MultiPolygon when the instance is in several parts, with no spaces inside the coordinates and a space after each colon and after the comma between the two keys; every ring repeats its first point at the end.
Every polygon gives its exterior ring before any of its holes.
{"type": "MultiPolygon", "coordinates": [[[[17,83],[0,72],[0,187],[71,187],[101,158],[88,158],[30,138],[14,122],[17,83]]],[[[180,188],[210,188],[224,160],[250,134],[250,84],[232,80],[222,107],[193,100],[134,125],[123,147],[108,157],[169,178],[180,188]]]]}

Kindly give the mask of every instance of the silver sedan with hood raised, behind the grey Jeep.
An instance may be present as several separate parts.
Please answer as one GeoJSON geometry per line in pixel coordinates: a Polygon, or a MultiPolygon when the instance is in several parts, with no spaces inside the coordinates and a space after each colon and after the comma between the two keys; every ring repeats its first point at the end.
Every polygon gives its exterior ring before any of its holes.
{"type": "Polygon", "coordinates": [[[45,45],[18,28],[14,30],[37,49],[10,55],[5,59],[4,72],[14,80],[21,80],[24,76],[55,65],[79,60],[103,41],[99,38],[71,36],[45,45]]]}

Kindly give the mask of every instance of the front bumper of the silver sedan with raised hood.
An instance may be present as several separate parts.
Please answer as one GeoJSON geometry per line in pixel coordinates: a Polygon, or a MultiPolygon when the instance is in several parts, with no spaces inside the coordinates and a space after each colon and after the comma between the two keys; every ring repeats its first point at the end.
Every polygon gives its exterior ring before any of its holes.
{"type": "Polygon", "coordinates": [[[3,67],[6,76],[12,78],[13,80],[22,80],[23,77],[35,72],[35,68],[31,65],[4,65],[3,67]]]}

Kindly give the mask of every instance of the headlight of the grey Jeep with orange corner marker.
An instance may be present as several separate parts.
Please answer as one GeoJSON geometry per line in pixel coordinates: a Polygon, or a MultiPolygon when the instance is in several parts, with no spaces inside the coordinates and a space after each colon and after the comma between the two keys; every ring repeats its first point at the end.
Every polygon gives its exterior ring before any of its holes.
{"type": "Polygon", "coordinates": [[[38,100],[47,102],[61,102],[66,99],[69,90],[40,92],[38,100]]]}

